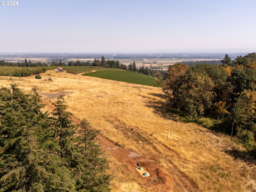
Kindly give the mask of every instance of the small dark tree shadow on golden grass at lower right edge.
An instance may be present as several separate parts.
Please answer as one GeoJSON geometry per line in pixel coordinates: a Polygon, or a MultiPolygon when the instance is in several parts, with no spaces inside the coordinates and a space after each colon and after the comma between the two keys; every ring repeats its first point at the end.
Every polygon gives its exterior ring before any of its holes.
{"type": "Polygon", "coordinates": [[[248,164],[254,164],[256,165],[256,161],[254,156],[252,155],[251,152],[246,152],[246,151],[240,151],[240,150],[226,150],[225,151],[227,154],[230,156],[234,157],[234,160],[243,160],[244,162],[248,164]]]}

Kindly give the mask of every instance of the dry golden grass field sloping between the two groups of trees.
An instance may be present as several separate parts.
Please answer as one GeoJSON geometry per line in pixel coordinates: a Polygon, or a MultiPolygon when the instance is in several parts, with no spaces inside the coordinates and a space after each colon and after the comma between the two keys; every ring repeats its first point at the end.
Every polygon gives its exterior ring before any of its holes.
{"type": "MultiPolygon", "coordinates": [[[[33,86],[40,93],[65,92],[74,119],[86,118],[100,130],[113,192],[256,192],[255,160],[244,148],[229,136],[166,115],[160,88],[65,72],[41,75],[12,79],[25,92],[33,86]],[[44,81],[49,77],[52,82],[44,81]],[[142,177],[135,163],[151,176],[142,177]]],[[[10,86],[8,80],[0,77],[1,85],[10,86]]],[[[56,95],[48,96],[42,99],[51,110],[56,95]]]]}

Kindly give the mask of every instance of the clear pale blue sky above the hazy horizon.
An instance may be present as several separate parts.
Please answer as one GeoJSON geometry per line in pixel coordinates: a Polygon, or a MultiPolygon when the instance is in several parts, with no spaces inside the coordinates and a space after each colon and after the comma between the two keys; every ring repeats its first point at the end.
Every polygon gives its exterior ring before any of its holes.
{"type": "Polygon", "coordinates": [[[18,0],[0,5],[0,52],[256,52],[255,9],[256,0],[18,0]]]}

